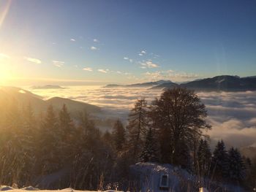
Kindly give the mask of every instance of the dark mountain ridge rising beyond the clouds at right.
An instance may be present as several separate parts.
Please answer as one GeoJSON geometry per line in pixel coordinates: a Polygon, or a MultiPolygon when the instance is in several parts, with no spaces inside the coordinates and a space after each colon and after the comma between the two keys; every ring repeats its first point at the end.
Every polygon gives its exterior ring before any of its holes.
{"type": "Polygon", "coordinates": [[[151,89],[166,89],[173,88],[175,86],[181,86],[196,91],[255,91],[256,77],[221,75],[212,78],[181,83],[181,85],[178,85],[174,82],[167,82],[154,86],[151,89]]]}

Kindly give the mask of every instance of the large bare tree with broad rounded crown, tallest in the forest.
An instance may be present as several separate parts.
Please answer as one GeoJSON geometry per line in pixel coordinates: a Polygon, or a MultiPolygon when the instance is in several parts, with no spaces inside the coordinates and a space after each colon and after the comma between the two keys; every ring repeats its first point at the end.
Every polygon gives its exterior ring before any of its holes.
{"type": "Polygon", "coordinates": [[[203,135],[202,130],[211,128],[206,123],[206,116],[205,105],[194,91],[186,88],[168,89],[153,101],[151,118],[162,141],[162,161],[179,164],[181,159],[177,154],[185,142],[192,150],[195,162],[197,141],[203,135]]]}

